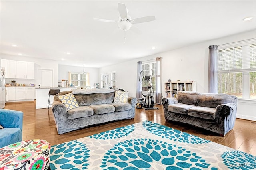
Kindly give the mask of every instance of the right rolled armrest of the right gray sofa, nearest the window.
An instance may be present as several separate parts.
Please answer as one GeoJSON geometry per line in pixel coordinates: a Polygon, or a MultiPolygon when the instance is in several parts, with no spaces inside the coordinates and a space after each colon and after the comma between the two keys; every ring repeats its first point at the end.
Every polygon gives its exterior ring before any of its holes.
{"type": "MultiPolygon", "coordinates": [[[[226,103],[221,104],[216,107],[216,113],[218,116],[228,116],[232,113],[236,114],[236,104],[234,103],[226,103]]],[[[236,116],[236,115],[235,115],[236,116]]]]}

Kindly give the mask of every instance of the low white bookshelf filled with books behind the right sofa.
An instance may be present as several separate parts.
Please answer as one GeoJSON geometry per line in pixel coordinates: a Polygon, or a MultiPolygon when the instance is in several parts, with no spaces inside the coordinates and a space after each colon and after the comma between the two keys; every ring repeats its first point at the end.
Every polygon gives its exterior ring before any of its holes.
{"type": "Polygon", "coordinates": [[[180,91],[196,91],[196,82],[166,82],[165,84],[165,97],[176,97],[180,91]]]}

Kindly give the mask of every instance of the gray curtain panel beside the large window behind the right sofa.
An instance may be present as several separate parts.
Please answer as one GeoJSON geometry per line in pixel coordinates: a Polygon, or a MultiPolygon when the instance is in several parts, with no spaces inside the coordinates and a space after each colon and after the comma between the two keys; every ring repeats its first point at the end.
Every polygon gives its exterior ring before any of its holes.
{"type": "Polygon", "coordinates": [[[208,93],[218,93],[218,45],[209,46],[208,93]]]}

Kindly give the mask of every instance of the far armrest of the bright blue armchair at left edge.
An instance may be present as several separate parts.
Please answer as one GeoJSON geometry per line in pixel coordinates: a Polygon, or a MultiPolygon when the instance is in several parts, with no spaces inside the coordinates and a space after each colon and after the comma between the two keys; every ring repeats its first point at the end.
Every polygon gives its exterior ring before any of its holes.
{"type": "Polygon", "coordinates": [[[0,109],[0,124],[4,128],[20,128],[22,131],[23,112],[0,109]]]}

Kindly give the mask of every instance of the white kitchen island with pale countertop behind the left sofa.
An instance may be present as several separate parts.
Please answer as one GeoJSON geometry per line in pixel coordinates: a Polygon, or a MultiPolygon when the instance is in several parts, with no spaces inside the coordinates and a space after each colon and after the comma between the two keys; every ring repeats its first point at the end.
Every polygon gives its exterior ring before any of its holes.
{"type": "MultiPolygon", "coordinates": [[[[50,89],[60,89],[60,91],[71,91],[77,87],[37,87],[36,88],[36,109],[47,108],[50,89]]],[[[53,102],[53,96],[51,96],[50,103],[53,102]]],[[[50,107],[52,107],[50,105],[50,107]]]]}

